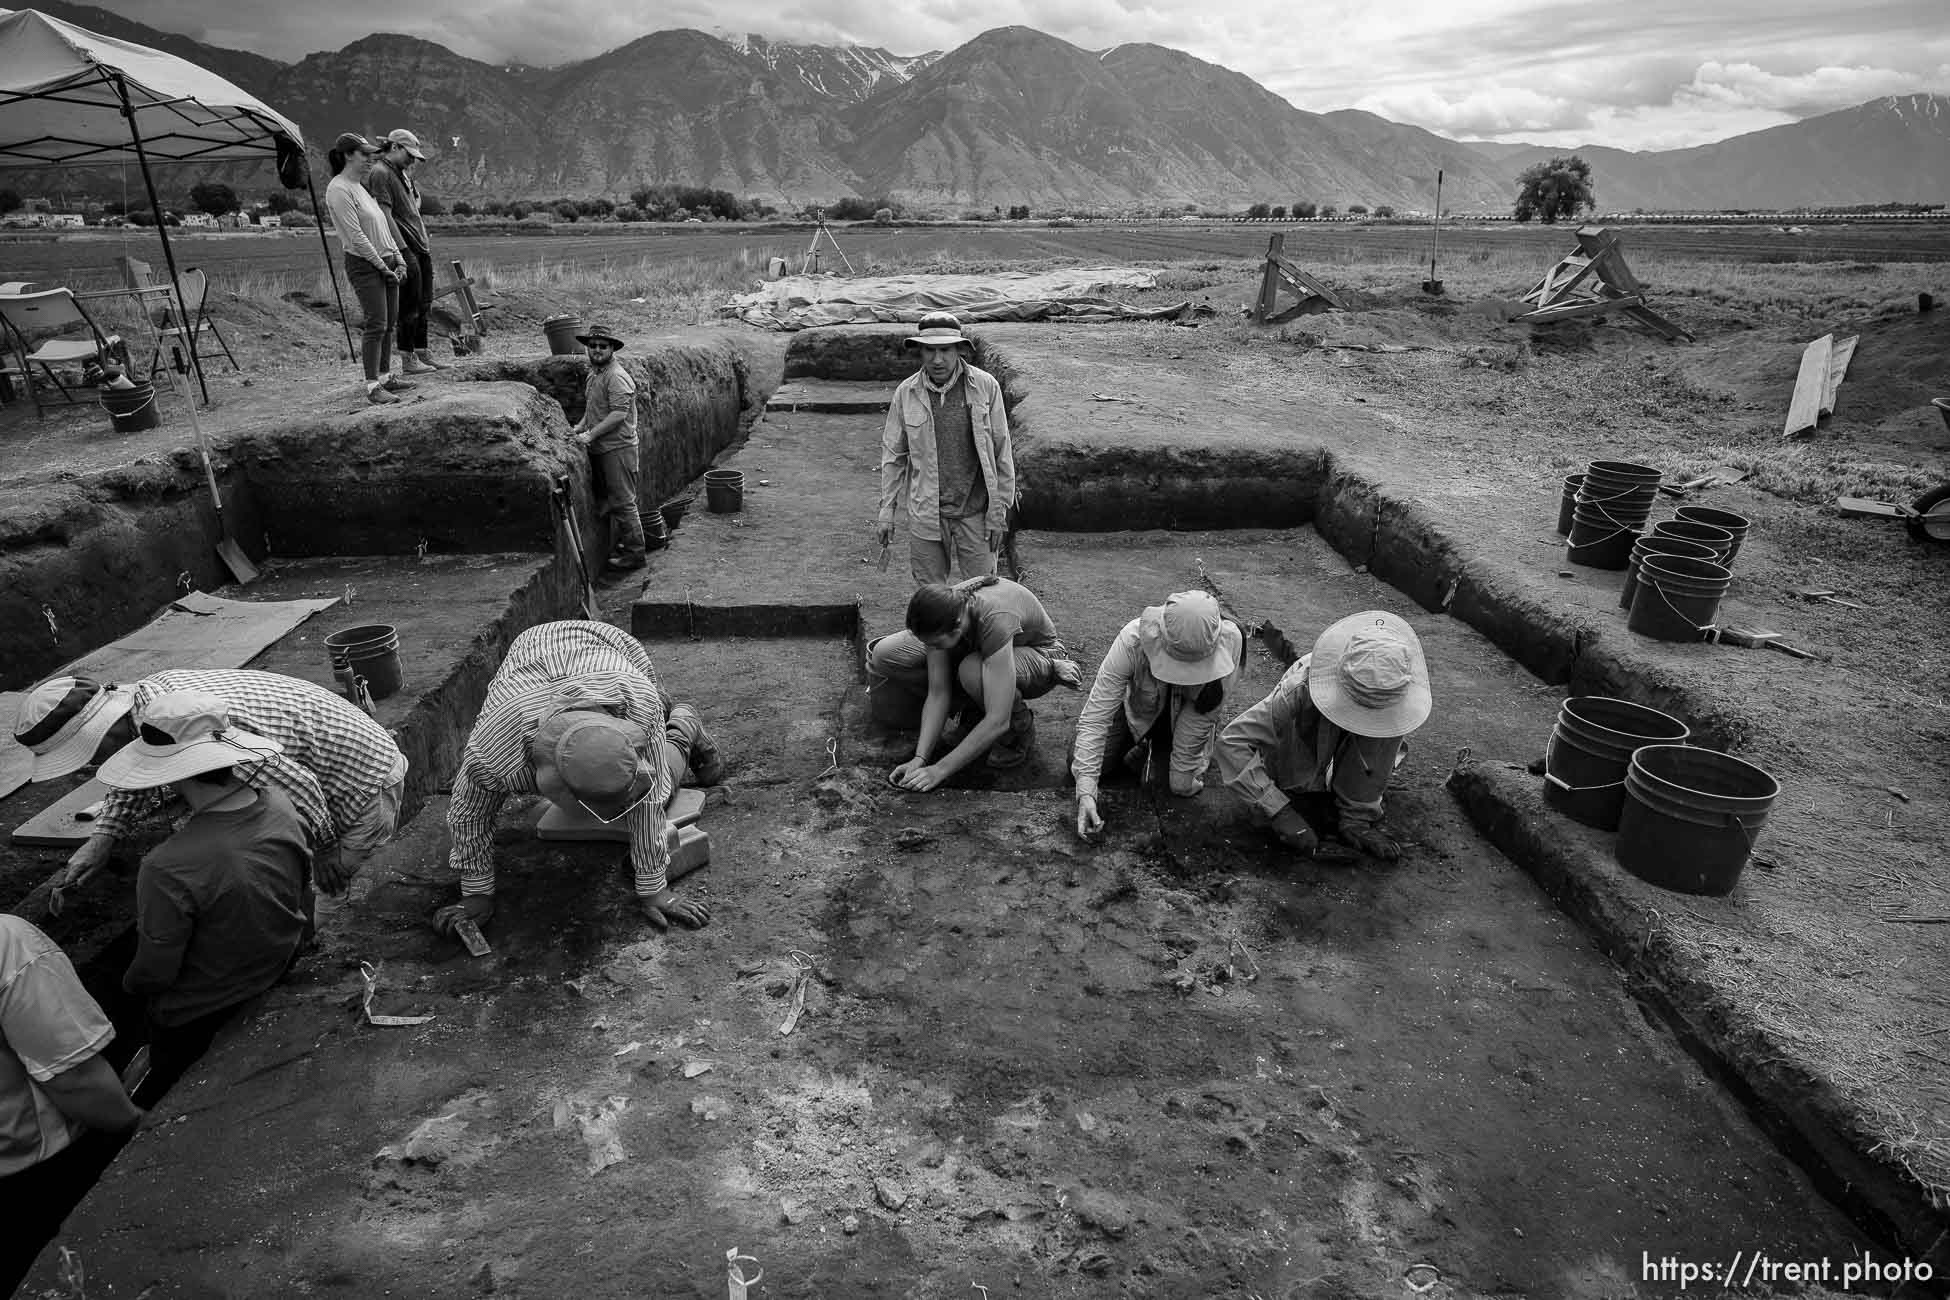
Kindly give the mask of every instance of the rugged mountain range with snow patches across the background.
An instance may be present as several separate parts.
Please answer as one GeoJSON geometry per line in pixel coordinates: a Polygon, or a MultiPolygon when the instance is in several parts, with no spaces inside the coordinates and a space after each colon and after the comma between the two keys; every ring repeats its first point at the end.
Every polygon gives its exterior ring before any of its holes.
{"type": "MultiPolygon", "coordinates": [[[[447,201],[620,199],[675,181],[794,207],[891,195],[946,212],[1254,201],[1425,210],[1439,168],[1445,209],[1502,212],[1523,168],[1572,152],[1461,142],[1351,109],[1306,113],[1176,49],[1086,51],[1032,27],[916,57],[679,29],[558,68],[369,35],[285,64],[66,0],[39,8],[226,76],[314,146],[339,131],[411,127],[429,146],[421,185],[447,201]]],[[[1685,150],[1576,152],[1603,210],[1938,203],[1950,199],[1950,97],[1890,96],[1685,150]]]]}

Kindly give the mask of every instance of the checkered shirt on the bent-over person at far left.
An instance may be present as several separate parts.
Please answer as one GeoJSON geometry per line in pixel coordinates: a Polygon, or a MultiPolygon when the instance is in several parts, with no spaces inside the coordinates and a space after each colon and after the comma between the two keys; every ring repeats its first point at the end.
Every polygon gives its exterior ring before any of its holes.
{"type": "MultiPolygon", "coordinates": [[[[230,721],[271,737],[283,754],[259,768],[298,809],[316,844],[332,844],[382,785],[406,776],[406,754],[376,721],[324,686],[254,669],[164,669],[131,686],[135,719],[156,696],[207,690],[230,721]]],[[[119,789],[101,803],[98,834],[121,834],[160,803],[160,791],[119,789]]]]}

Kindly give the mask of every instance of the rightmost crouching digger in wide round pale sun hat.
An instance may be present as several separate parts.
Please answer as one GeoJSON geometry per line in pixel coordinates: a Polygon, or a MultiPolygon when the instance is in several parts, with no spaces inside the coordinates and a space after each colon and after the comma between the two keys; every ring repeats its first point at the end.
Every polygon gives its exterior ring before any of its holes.
{"type": "Polygon", "coordinates": [[[1384,610],[1349,614],[1219,733],[1219,776],[1297,854],[1338,834],[1394,861],[1402,848],[1381,828],[1388,778],[1429,709],[1414,628],[1384,610]]]}

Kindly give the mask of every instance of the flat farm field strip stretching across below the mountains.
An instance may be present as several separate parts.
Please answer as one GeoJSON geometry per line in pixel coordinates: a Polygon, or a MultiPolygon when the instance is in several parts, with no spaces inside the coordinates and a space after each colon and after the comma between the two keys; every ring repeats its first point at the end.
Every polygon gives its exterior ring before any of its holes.
{"type": "MultiPolygon", "coordinates": [[[[786,257],[794,269],[805,251],[805,226],[655,228],[644,234],[450,234],[435,232],[437,261],[460,259],[470,271],[530,267],[591,269],[606,263],[722,261],[743,257],[762,267],[786,257]]],[[[573,230],[573,228],[569,228],[573,230]]],[[[858,267],[1014,261],[1211,261],[1258,257],[1268,236],[1285,232],[1289,255],[1301,261],[1361,261],[1425,267],[1427,226],[1404,224],[1232,224],[1232,222],[1092,222],[1051,228],[1041,222],[994,226],[835,226],[835,238],[858,267]]],[[[1624,244],[1642,259],[1788,261],[1944,261],[1950,222],[1847,222],[1784,234],[1767,226],[1624,226],[1624,244]]],[[[1490,255],[1535,259],[1539,271],[1570,246],[1570,226],[1461,224],[1441,232],[1443,263],[1490,255]]],[[[203,267],[214,281],[283,281],[304,287],[318,279],[322,253],[314,232],[176,236],[179,265],[203,267]]],[[[332,246],[337,257],[337,246],[332,246]]],[[[49,281],[74,287],[119,283],[121,255],[160,259],[154,234],[140,230],[80,236],[0,238],[0,279],[49,281]]],[[[825,248],[827,265],[835,265],[825,248]]],[[[835,269],[838,269],[835,265],[835,269]]]]}

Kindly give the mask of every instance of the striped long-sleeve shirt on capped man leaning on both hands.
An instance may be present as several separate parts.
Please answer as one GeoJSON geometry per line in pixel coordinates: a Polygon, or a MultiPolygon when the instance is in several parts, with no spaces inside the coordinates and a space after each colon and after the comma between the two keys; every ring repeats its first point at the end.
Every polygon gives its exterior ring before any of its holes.
{"type": "MultiPolygon", "coordinates": [[[[448,863],[460,871],[462,895],[493,893],[493,819],[513,793],[536,793],[528,743],[542,721],[566,702],[601,706],[647,735],[663,737],[663,696],[644,645],[622,628],[581,620],[528,628],[507,647],[507,659],[488,684],[480,717],[460,754],[447,826],[454,836],[448,863]]],[[[663,745],[649,746],[657,784],[628,817],[630,865],[636,893],[661,893],[669,879],[663,805],[671,770],[663,745]]]]}

